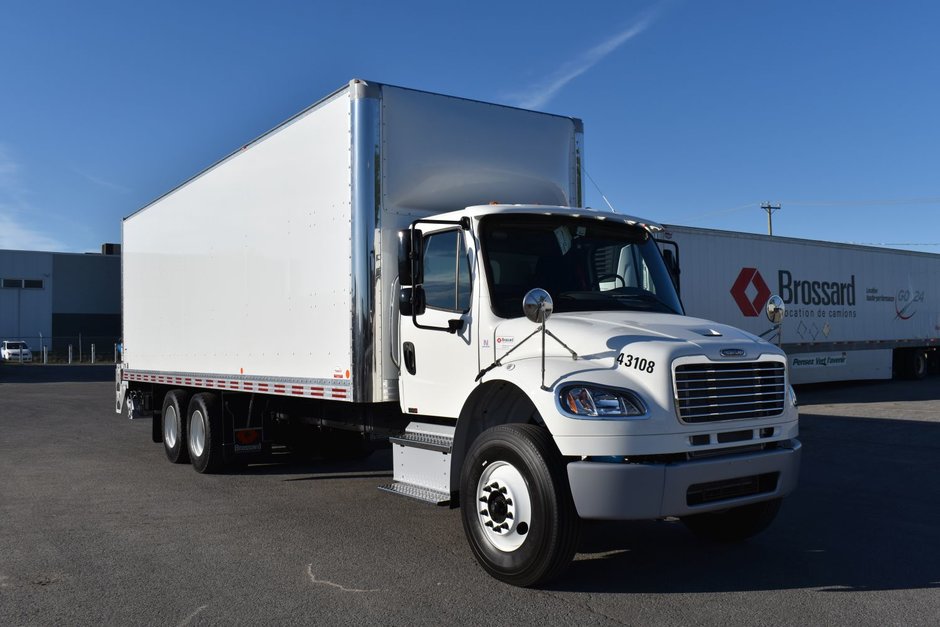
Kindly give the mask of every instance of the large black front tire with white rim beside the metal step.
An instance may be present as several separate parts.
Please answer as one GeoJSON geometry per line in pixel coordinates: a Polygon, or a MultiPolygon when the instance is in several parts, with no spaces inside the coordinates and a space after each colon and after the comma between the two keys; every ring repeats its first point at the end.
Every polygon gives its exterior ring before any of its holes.
{"type": "Polygon", "coordinates": [[[460,475],[460,509],[474,557],[506,583],[544,584],[577,548],[564,460],[541,427],[500,425],[477,438],[460,475]]]}

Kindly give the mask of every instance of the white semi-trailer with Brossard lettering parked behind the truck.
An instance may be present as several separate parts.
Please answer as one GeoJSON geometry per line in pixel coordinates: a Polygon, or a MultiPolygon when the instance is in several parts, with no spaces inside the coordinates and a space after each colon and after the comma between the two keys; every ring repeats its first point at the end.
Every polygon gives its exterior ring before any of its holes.
{"type": "Polygon", "coordinates": [[[686,312],[761,333],[771,294],[793,383],[919,379],[937,369],[940,255],[669,225],[686,312]]]}

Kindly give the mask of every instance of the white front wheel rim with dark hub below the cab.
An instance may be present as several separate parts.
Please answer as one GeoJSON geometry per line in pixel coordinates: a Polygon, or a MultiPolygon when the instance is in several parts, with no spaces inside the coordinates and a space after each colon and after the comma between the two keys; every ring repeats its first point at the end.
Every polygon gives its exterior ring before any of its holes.
{"type": "Polygon", "coordinates": [[[490,463],[477,482],[476,504],[483,537],[493,548],[511,553],[522,546],[532,523],[532,500],[515,466],[490,463]]]}

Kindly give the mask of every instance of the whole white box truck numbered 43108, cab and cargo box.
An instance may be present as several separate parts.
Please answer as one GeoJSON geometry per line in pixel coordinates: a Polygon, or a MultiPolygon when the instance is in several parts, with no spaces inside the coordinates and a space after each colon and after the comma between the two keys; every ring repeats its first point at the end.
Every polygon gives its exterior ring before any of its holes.
{"type": "Polygon", "coordinates": [[[582,519],[758,533],[797,482],[786,358],[686,317],[582,158],[577,119],[350,82],[125,219],[117,411],[199,472],[388,437],[385,489],[516,585],[582,519]]]}

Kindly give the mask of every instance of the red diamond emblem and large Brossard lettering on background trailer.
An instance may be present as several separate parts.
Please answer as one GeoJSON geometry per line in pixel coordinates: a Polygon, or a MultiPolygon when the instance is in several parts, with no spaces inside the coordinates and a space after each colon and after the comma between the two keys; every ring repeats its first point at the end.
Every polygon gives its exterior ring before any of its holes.
{"type": "MultiPolygon", "coordinates": [[[[777,272],[777,293],[787,305],[855,306],[855,275],[845,281],[815,281],[794,279],[789,270],[777,272]]],[[[731,286],[731,296],[745,317],[760,315],[770,299],[770,288],[757,268],[742,268],[731,286]],[[753,298],[748,289],[754,287],[753,298]]]]}

